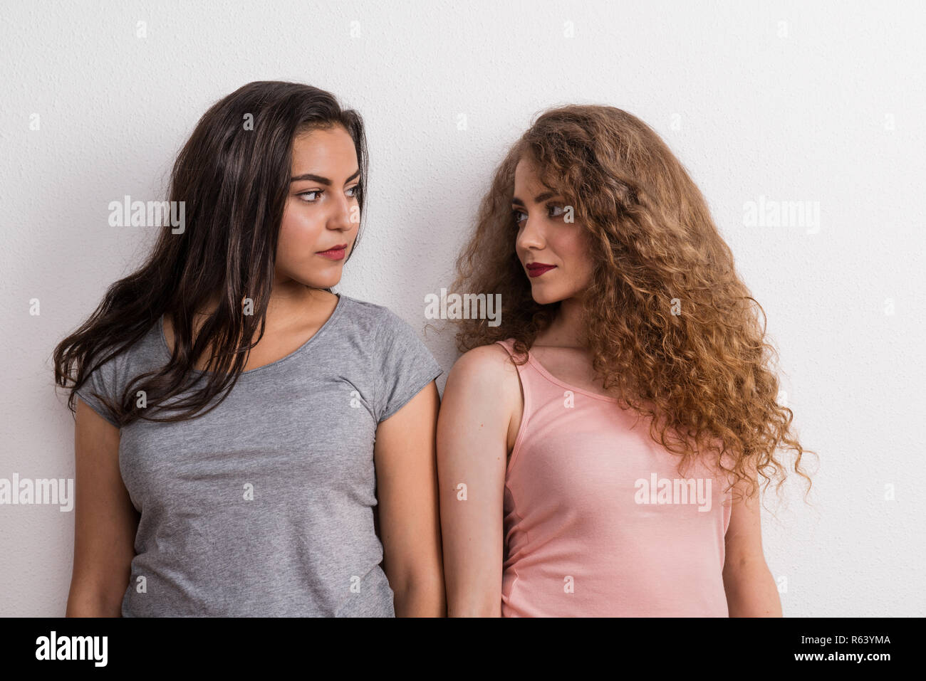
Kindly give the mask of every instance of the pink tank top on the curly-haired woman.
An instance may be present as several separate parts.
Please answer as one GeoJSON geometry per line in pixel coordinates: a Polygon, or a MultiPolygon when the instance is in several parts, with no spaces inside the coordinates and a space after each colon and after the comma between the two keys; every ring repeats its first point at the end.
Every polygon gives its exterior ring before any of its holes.
{"type": "MultiPolygon", "coordinates": [[[[513,341],[497,341],[509,354],[513,341]]],[[[728,478],[528,354],[505,476],[503,617],[727,617],[728,478]]],[[[730,464],[725,463],[727,467],[730,464]]]]}

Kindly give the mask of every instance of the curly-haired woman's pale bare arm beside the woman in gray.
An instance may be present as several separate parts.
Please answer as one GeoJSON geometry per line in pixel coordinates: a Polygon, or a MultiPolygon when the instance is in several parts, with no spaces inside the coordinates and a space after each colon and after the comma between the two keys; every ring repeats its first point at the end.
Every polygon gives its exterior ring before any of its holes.
{"type": "Polygon", "coordinates": [[[470,350],[447,377],[437,469],[450,616],[501,614],[507,430],[519,399],[516,369],[497,345],[470,350]]]}

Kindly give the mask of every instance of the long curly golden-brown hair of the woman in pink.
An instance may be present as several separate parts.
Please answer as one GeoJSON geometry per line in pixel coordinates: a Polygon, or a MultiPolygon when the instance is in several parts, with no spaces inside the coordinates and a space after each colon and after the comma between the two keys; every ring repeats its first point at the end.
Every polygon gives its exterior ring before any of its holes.
{"type": "Polygon", "coordinates": [[[502,323],[459,320],[459,351],[513,338],[526,353],[557,314],[559,303],[534,302],[515,251],[511,198],[522,158],[591,234],[584,314],[592,368],[605,389],[649,419],[653,439],[682,457],[680,469],[714,452],[731,486],[747,480],[752,496],[755,473],[766,488],[779,477],[780,492],[786,466],[775,455],[790,450],[809,491],[801,459],[814,452],[801,447],[794,414],[778,403],[765,311],[737,275],[694,181],[657,133],[626,111],[550,109],[496,169],[451,290],[500,293],[502,323]]]}

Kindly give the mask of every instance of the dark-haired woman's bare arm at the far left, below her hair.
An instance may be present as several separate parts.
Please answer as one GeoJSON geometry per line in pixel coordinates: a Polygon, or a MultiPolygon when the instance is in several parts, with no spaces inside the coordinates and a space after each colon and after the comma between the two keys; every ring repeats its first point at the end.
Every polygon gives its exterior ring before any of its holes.
{"type": "Polygon", "coordinates": [[[119,474],[119,429],[80,398],[74,457],[74,568],[66,616],[119,617],[138,514],[119,474]]]}

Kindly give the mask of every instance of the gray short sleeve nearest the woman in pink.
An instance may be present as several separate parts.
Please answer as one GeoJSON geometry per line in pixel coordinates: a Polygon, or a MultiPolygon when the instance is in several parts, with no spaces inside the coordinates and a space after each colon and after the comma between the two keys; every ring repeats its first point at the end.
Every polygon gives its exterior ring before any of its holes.
{"type": "Polygon", "coordinates": [[[394,415],[444,373],[415,329],[388,309],[376,336],[376,356],[380,364],[374,396],[377,423],[394,415]]]}

